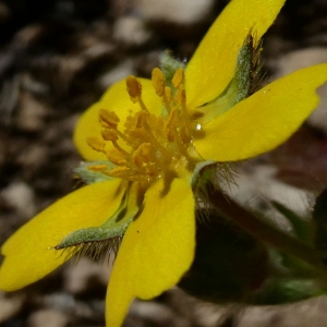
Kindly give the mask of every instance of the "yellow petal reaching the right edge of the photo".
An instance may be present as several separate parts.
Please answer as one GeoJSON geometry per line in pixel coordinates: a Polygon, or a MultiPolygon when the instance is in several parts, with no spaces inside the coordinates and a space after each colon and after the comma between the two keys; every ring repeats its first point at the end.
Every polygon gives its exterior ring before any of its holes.
{"type": "Polygon", "coordinates": [[[268,152],[294,133],[317,107],[316,88],[327,64],[313,65],[270,83],[204,126],[194,142],[206,159],[233,161],[268,152]]]}

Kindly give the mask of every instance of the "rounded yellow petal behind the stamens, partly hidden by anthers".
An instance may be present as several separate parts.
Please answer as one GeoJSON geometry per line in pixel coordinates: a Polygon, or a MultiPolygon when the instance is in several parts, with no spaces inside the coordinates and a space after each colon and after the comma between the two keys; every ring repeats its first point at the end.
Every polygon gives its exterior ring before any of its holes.
{"type": "MultiPolygon", "coordinates": [[[[155,94],[152,81],[137,80],[142,83],[142,98],[145,106],[150,112],[159,114],[162,105],[160,98],[155,94]]],[[[88,136],[101,138],[98,119],[99,109],[114,111],[120,118],[118,129],[123,132],[126,117],[140,110],[140,105],[132,102],[126,90],[126,82],[122,80],[109,87],[100,100],[81,116],[74,132],[74,143],[82,157],[90,161],[106,159],[104,154],[95,152],[86,144],[86,137],[88,136]]]]}

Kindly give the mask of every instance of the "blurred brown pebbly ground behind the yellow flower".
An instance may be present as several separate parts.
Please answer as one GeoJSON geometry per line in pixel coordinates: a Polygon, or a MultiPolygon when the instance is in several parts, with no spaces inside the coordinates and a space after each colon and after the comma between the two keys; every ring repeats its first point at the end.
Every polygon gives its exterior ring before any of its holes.
{"type": "MultiPolygon", "coordinates": [[[[149,77],[166,49],[187,61],[226,3],[0,1],[0,244],[75,186],[78,116],[116,81],[149,77]]],[[[288,0],[264,37],[263,61],[267,81],[327,62],[327,1],[288,0]]],[[[237,201],[269,210],[266,199],[272,198],[301,215],[310,211],[327,183],[327,89],[319,92],[318,110],[289,142],[239,167],[239,186],[231,190],[237,201]]],[[[24,290],[0,292],[0,326],[104,326],[109,275],[107,265],[83,258],[24,290]]],[[[326,326],[326,307],[318,298],[240,310],[174,289],[135,301],[125,326],[326,326]]]]}

